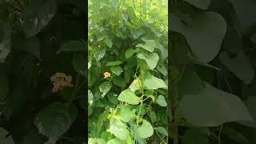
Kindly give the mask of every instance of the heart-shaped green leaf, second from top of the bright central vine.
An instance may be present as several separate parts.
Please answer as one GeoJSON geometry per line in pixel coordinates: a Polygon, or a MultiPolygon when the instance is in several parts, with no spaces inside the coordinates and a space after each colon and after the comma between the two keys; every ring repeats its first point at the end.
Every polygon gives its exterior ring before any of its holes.
{"type": "Polygon", "coordinates": [[[146,61],[146,64],[150,67],[151,70],[158,65],[159,56],[156,53],[142,53],[137,55],[138,58],[143,59],[146,61]]]}

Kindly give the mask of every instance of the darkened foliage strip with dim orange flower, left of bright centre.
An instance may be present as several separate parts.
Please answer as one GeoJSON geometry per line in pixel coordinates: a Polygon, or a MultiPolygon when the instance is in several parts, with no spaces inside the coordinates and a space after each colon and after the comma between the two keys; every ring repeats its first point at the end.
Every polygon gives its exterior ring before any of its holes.
{"type": "Polygon", "coordinates": [[[86,3],[0,1],[0,143],[85,142],[86,3]]]}

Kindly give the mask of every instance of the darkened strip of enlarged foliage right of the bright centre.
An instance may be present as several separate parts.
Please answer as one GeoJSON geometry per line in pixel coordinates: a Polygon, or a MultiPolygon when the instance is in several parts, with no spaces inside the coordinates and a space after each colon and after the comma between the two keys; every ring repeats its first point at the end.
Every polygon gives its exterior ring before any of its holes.
{"type": "Polygon", "coordinates": [[[169,10],[174,144],[255,143],[256,1],[175,0],[169,10]]]}

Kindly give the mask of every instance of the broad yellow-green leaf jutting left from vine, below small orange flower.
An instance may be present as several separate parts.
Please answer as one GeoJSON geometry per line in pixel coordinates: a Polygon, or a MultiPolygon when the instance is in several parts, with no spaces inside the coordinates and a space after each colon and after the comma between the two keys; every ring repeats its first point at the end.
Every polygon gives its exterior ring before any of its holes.
{"type": "Polygon", "coordinates": [[[127,102],[130,105],[138,105],[140,98],[138,98],[134,92],[130,89],[122,90],[121,94],[118,95],[118,100],[121,102],[127,102]]]}

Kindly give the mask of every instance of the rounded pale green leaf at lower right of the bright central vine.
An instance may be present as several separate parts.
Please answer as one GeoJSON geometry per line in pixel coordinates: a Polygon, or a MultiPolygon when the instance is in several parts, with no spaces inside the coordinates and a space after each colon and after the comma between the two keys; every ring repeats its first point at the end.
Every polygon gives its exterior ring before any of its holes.
{"type": "Polygon", "coordinates": [[[142,126],[138,127],[138,136],[141,138],[149,138],[154,134],[154,129],[151,126],[150,122],[147,122],[143,119],[142,126]]]}

